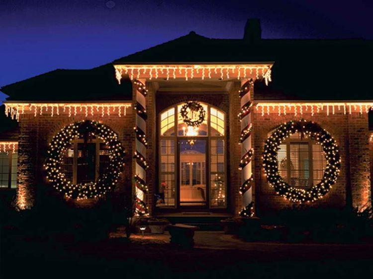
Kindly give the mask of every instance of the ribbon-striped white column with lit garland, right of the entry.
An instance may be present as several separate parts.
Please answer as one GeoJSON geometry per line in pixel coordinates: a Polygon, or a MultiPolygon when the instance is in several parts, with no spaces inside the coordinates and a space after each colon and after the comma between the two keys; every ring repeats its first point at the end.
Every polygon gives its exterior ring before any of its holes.
{"type": "Polygon", "coordinates": [[[253,173],[252,173],[252,157],[254,154],[254,149],[251,144],[251,132],[253,130],[253,124],[251,122],[251,96],[250,87],[252,81],[241,81],[240,99],[241,99],[241,111],[238,117],[241,121],[241,161],[239,165],[239,170],[241,170],[241,187],[240,194],[242,195],[242,205],[243,209],[240,211],[242,217],[252,217],[254,216],[253,210],[253,199],[252,199],[252,183],[253,183],[253,173]]]}

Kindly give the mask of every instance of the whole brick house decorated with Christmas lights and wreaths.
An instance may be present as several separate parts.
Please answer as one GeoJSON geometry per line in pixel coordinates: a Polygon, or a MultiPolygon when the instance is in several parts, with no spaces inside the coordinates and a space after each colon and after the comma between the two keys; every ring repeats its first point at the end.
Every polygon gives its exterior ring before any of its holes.
{"type": "Polygon", "coordinates": [[[371,65],[370,40],[263,39],[252,19],[242,39],[192,31],[6,85],[1,188],[27,209],[37,187],[94,206],[132,186],[153,216],[365,207],[371,65]]]}

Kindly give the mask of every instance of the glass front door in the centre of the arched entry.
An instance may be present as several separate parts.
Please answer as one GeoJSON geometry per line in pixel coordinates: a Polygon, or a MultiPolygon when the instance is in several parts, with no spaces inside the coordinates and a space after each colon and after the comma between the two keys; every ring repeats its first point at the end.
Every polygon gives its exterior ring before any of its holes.
{"type": "Polygon", "coordinates": [[[206,139],[179,139],[180,206],[207,205],[206,139]]]}

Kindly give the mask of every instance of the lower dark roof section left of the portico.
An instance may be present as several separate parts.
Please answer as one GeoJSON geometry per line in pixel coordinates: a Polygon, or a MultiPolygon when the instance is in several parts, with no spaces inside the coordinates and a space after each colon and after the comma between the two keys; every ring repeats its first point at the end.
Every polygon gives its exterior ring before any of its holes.
{"type": "Polygon", "coordinates": [[[1,88],[7,101],[131,100],[130,82],[120,85],[112,64],[90,70],[53,70],[1,88]]]}

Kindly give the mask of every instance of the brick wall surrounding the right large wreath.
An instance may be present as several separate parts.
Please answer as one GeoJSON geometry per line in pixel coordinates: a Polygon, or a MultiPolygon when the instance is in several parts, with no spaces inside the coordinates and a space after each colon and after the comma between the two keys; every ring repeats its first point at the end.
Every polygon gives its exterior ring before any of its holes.
{"type": "MultiPolygon", "coordinates": [[[[255,110],[254,110],[255,111],[255,110]]],[[[287,113],[279,116],[277,113],[254,113],[254,148],[255,148],[255,193],[259,214],[268,210],[277,210],[290,206],[292,203],[276,195],[267,183],[262,168],[262,153],[268,134],[281,123],[290,120],[306,119],[315,121],[326,129],[337,141],[341,154],[341,173],[330,192],[311,206],[328,206],[341,208],[346,205],[346,199],[351,196],[353,206],[369,203],[371,198],[369,131],[367,114],[319,113],[311,116],[303,113],[300,117],[287,113]],[[351,190],[350,190],[351,185],[351,190]]]]}

